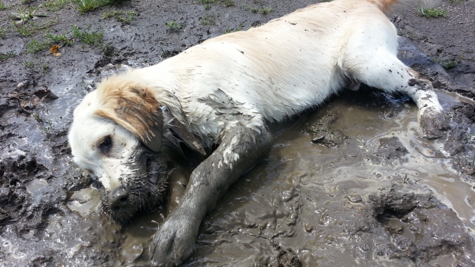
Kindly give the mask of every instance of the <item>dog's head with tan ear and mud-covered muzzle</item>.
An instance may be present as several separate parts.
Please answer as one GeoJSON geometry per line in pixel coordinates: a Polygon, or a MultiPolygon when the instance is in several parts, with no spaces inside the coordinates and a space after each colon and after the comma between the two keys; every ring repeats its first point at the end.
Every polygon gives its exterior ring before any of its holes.
{"type": "Polygon", "coordinates": [[[150,89],[114,78],[75,109],[68,137],[74,162],[102,187],[104,211],[126,221],[164,195],[163,114],[150,89]]]}

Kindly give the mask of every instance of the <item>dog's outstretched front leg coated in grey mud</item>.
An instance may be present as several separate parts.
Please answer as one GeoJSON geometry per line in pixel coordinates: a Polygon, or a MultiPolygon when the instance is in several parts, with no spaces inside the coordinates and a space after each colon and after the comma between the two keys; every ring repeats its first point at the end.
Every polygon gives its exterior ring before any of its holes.
{"type": "Polygon", "coordinates": [[[192,172],[182,202],[153,236],[151,266],[177,266],[188,258],[206,212],[271,147],[272,135],[265,127],[253,130],[238,124],[226,131],[219,147],[192,172]]]}

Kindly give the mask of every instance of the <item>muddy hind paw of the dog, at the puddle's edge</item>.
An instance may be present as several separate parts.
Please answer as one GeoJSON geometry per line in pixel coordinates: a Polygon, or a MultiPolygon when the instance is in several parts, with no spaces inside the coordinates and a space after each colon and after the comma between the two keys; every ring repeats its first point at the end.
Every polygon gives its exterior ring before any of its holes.
{"type": "Polygon", "coordinates": [[[421,132],[428,140],[438,139],[445,135],[450,125],[442,112],[424,112],[420,118],[421,132]]]}

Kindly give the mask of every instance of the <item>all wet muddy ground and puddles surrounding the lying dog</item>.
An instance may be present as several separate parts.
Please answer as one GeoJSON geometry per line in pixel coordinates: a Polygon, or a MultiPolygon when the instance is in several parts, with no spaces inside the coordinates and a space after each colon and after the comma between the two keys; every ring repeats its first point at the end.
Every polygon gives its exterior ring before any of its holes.
{"type": "MultiPolygon", "coordinates": [[[[74,107],[113,72],[319,1],[203,2],[0,1],[0,267],[146,266],[163,207],[124,225],[97,211],[67,144],[74,107]]],[[[401,60],[439,89],[447,136],[419,138],[407,97],[342,93],[232,186],[184,266],[475,266],[475,1],[439,7],[390,19],[401,60]]]]}

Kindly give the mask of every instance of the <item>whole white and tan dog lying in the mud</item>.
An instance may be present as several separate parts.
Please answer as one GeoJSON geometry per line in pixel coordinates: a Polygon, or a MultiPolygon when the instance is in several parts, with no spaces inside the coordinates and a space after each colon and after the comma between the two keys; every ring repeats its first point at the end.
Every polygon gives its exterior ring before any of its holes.
{"type": "Polygon", "coordinates": [[[396,57],[396,29],[387,16],[406,6],[406,0],[310,5],[105,78],[74,111],[74,162],[100,184],[103,210],[127,221],[163,201],[172,155],[198,158],[181,203],[149,249],[151,266],[179,265],[206,213],[268,155],[269,124],[364,83],[409,95],[422,136],[444,135],[449,126],[431,83],[396,57]]]}

